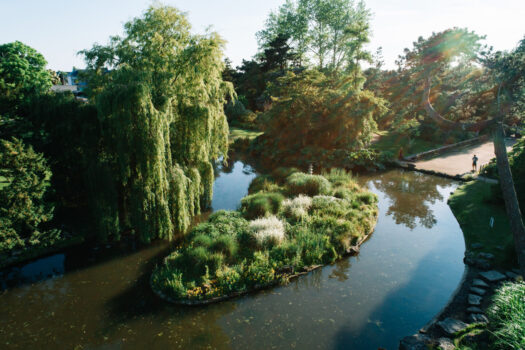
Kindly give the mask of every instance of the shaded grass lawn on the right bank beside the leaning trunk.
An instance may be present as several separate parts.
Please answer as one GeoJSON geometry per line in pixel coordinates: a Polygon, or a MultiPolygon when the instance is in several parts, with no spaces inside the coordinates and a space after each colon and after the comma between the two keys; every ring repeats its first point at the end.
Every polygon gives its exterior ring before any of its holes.
{"type": "Polygon", "coordinates": [[[465,243],[481,243],[479,251],[495,255],[495,265],[504,268],[516,266],[514,241],[503,203],[493,203],[491,184],[471,181],[460,186],[449,199],[452,212],[463,230],[465,243]],[[494,227],[490,227],[490,218],[494,227]],[[499,249],[502,247],[503,249],[499,249]]]}

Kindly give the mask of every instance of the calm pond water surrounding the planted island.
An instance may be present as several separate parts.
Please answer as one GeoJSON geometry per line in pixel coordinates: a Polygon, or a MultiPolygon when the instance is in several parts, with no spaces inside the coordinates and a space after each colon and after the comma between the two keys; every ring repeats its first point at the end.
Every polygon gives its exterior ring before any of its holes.
{"type": "MultiPolygon", "coordinates": [[[[255,176],[219,169],[214,210],[234,209],[255,176]]],[[[79,248],[0,272],[2,349],[397,349],[448,301],[464,271],[447,198],[456,183],[392,170],[360,177],[380,216],[357,257],[286,286],[204,307],[157,299],[167,244],[79,248]]]]}

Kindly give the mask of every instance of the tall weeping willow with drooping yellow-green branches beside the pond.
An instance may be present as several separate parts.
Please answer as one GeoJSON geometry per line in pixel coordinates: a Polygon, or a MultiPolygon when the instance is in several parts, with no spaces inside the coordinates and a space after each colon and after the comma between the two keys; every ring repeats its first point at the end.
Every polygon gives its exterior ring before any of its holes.
{"type": "Polygon", "coordinates": [[[177,9],[152,6],[123,37],[81,52],[102,134],[91,204],[106,239],[171,239],[210,203],[233,88],[221,78],[224,42],[190,29],[177,9]]]}

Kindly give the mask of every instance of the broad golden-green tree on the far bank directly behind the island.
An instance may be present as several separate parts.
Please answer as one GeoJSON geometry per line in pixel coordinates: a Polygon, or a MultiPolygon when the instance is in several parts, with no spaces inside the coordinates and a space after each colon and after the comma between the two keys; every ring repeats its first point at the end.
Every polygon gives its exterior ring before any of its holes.
{"type": "Polygon", "coordinates": [[[265,134],[255,140],[256,153],[277,163],[323,164],[368,144],[386,107],[353,83],[317,71],[277,79],[269,88],[272,106],[262,115],[265,134]]]}

